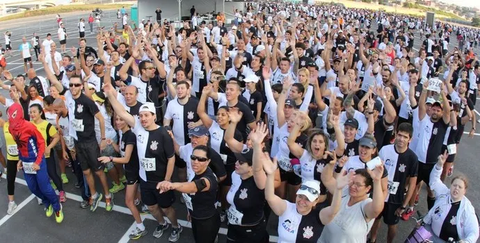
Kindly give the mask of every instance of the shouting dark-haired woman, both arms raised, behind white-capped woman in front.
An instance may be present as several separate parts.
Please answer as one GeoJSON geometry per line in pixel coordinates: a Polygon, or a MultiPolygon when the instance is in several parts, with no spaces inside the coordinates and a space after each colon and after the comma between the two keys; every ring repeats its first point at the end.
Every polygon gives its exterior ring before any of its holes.
{"type": "MultiPolygon", "coordinates": [[[[323,167],[325,167],[330,160],[335,158],[337,154],[344,153],[344,135],[340,129],[338,116],[333,114],[330,115],[328,122],[333,124],[333,128],[335,129],[335,140],[337,141],[337,148],[333,153],[328,151],[329,137],[322,130],[315,129],[310,133],[305,149],[295,142],[296,134],[300,131],[303,121],[299,119],[291,130],[287,144],[290,153],[300,160],[299,165],[294,165],[294,171],[301,176],[302,181],[315,180],[321,182],[320,178],[323,167]]],[[[320,183],[320,190],[318,203],[323,203],[327,199],[327,192],[323,183],[320,183]]]]}

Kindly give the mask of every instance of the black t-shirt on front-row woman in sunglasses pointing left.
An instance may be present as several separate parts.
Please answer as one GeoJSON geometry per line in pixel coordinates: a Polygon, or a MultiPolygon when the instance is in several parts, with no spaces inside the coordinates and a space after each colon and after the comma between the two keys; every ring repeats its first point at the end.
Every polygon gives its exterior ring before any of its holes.
{"type": "Polygon", "coordinates": [[[209,167],[202,174],[195,174],[192,181],[200,178],[206,178],[210,182],[209,190],[205,192],[195,192],[189,194],[192,200],[193,210],[189,210],[190,215],[194,219],[209,219],[216,214],[216,194],[218,190],[218,182],[214,172],[209,167]]]}

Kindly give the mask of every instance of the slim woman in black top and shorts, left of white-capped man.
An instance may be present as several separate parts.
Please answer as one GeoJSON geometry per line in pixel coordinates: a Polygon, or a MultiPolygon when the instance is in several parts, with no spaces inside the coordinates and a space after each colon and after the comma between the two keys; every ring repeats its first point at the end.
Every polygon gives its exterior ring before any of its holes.
{"type": "Polygon", "coordinates": [[[119,158],[111,156],[102,156],[98,160],[104,164],[114,162],[115,164],[123,165],[125,169],[125,177],[127,178],[127,190],[125,190],[125,205],[129,208],[131,215],[136,222],[136,229],[131,232],[129,238],[136,240],[147,234],[147,230],[143,225],[143,221],[135,206],[135,197],[138,190],[138,169],[139,162],[136,147],[136,135],[131,131],[130,126],[120,116],[115,116],[115,125],[118,128],[120,142],[113,144],[115,151],[120,152],[119,158]]]}

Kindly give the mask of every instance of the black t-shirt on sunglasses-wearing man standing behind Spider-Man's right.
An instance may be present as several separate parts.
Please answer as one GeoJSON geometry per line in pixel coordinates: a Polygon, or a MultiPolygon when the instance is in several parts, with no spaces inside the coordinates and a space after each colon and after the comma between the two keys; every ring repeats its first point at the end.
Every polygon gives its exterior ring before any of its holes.
{"type": "Polygon", "coordinates": [[[95,101],[89,99],[85,94],[80,94],[74,99],[74,121],[70,121],[77,133],[78,142],[97,142],[95,136],[95,115],[99,112],[95,101]]]}

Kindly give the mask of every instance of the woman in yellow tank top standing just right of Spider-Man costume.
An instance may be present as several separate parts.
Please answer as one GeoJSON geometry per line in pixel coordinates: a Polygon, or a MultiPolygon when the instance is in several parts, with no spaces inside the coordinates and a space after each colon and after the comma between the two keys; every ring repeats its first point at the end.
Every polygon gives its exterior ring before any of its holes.
{"type": "Polygon", "coordinates": [[[65,196],[65,191],[63,190],[60,176],[58,176],[56,173],[54,154],[51,153],[51,150],[54,149],[55,145],[58,143],[58,141],[60,141],[60,136],[58,135],[56,128],[45,119],[43,108],[38,103],[30,106],[30,118],[31,123],[35,125],[38,131],[40,131],[43,139],[45,140],[45,160],[47,160],[47,173],[49,178],[51,178],[51,181],[54,182],[58,192],[60,192],[60,201],[64,203],[67,201],[67,197],[65,196]]]}

